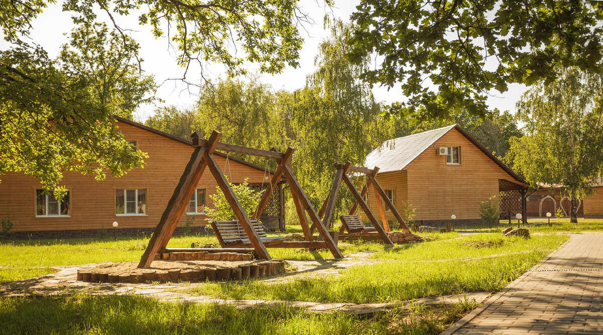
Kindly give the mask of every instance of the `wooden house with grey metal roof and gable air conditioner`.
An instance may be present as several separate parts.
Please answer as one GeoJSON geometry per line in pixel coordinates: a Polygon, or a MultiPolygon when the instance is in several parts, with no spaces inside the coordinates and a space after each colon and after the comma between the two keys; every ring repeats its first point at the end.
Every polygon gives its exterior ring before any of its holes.
{"type": "MultiPolygon", "coordinates": [[[[453,214],[456,224],[480,224],[479,202],[490,196],[499,199],[501,218],[526,218],[528,185],[458,125],[387,140],[365,166],[380,168],[388,198],[400,212],[406,204],[415,208],[420,224],[442,225],[453,214]]],[[[379,212],[372,189],[368,205],[379,212]]]]}

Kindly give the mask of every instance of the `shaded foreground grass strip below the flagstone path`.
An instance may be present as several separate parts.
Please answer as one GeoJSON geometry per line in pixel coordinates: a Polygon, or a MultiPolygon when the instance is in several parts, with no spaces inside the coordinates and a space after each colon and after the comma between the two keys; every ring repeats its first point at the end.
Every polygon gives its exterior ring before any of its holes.
{"type": "Polygon", "coordinates": [[[172,304],[139,296],[0,299],[0,334],[438,334],[475,303],[350,316],[298,308],[172,304]]]}

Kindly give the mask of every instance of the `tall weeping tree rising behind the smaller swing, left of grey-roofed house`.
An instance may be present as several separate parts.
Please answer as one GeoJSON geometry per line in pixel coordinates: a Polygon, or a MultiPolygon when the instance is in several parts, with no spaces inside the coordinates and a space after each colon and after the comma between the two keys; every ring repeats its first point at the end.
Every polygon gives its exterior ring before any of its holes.
{"type": "Polygon", "coordinates": [[[355,27],[329,23],[331,36],[318,47],[318,69],[306,78],[306,86],[293,93],[290,127],[295,143],[293,161],[300,183],[315,204],[327,196],[332,184],[333,162],[350,160],[364,165],[367,153],[386,137],[371,87],[359,75],[370,59],[352,64],[346,58],[346,41],[355,27]]]}

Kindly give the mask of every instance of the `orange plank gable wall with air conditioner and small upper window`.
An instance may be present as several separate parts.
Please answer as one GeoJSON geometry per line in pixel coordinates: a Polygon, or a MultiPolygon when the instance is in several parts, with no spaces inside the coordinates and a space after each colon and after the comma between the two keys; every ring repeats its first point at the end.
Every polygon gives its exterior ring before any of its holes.
{"type": "Polygon", "coordinates": [[[452,214],[459,220],[479,219],[478,203],[498,196],[499,179],[517,183],[455,129],[415,158],[406,171],[408,201],[416,208],[417,221],[449,220],[452,214]],[[440,146],[459,146],[461,164],[446,164],[446,156],[437,155],[440,146]]]}

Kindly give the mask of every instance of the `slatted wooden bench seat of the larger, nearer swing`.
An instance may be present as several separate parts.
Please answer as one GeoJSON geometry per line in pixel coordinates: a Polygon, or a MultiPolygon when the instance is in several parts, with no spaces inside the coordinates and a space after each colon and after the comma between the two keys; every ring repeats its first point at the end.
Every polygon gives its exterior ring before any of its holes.
{"type": "MultiPolygon", "coordinates": [[[[251,220],[251,225],[256,231],[262,243],[280,242],[285,240],[285,236],[266,236],[264,226],[258,220],[251,220]]],[[[245,234],[245,230],[239,224],[239,221],[213,221],[212,222],[213,233],[218,237],[218,242],[223,248],[227,246],[235,245],[250,245],[251,241],[245,234]]]]}

